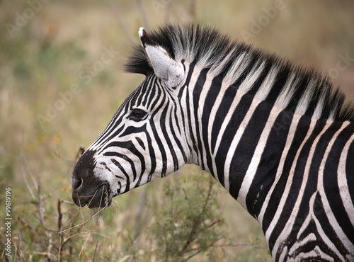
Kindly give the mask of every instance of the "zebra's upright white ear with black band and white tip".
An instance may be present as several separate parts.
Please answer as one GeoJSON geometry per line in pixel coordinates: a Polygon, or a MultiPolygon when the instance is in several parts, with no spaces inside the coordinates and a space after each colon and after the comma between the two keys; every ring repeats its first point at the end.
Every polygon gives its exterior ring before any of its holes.
{"type": "Polygon", "coordinates": [[[177,62],[164,48],[157,45],[152,38],[147,35],[144,28],[139,29],[139,38],[154,68],[156,76],[158,76],[166,86],[176,89],[184,78],[185,72],[183,64],[177,62]]]}

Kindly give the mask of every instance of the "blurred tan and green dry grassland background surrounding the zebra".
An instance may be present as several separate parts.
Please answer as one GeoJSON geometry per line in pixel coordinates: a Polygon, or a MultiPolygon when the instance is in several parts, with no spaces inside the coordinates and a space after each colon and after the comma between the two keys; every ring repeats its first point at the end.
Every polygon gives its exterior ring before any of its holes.
{"type": "Polygon", "coordinates": [[[329,74],[353,99],[353,13],[350,0],[0,1],[1,220],[5,188],[13,211],[11,256],[1,259],[271,261],[256,220],[195,166],[118,196],[95,215],[72,205],[75,159],[144,78],[122,72],[140,26],[211,25],[329,74]],[[191,210],[200,213],[190,218],[191,210]],[[198,223],[194,238],[181,233],[198,223]]]}

